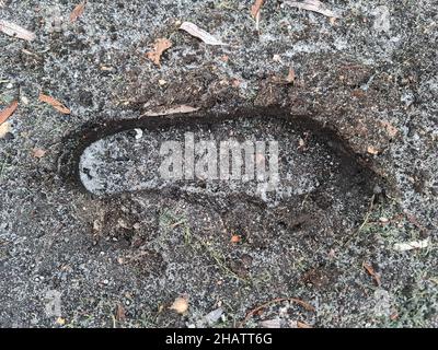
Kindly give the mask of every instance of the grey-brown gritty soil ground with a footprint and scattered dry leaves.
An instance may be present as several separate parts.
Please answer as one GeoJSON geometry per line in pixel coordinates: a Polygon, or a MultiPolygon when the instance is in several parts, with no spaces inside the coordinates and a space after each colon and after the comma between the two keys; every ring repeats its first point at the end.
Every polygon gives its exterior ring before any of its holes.
{"type": "Polygon", "coordinates": [[[284,2],[257,31],[252,1],[89,1],[74,23],[77,1],[0,1],[36,34],[0,34],[0,110],[19,101],[0,139],[1,327],[438,326],[438,3],[325,1],[333,21],[284,2]],[[148,116],[181,105],[198,110],[148,116]],[[283,140],[298,185],[146,186],[141,154],[185,128],[283,140]]]}

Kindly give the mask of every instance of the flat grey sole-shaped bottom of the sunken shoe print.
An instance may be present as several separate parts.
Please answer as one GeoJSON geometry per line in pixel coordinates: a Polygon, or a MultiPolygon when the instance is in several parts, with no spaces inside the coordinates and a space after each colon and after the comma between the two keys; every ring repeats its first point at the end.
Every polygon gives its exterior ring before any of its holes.
{"type": "Polygon", "coordinates": [[[353,186],[343,196],[354,197],[360,186],[347,173],[357,170],[311,131],[263,118],[127,130],[92,143],[80,161],[81,182],[96,195],[175,188],[270,207],[318,190],[336,196],[345,182],[353,186]]]}

